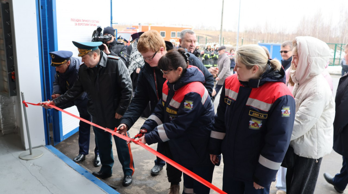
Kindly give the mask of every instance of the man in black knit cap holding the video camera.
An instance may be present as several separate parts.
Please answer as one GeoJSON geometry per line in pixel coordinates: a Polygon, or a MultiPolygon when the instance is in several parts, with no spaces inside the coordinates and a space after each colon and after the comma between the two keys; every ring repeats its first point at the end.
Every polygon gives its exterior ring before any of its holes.
{"type": "Polygon", "coordinates": [[[103,35],[111,35],[111,40],[103,43],[104,45],[104,53],[107,55],[118,56],[122,59],[122,61],[126,64],[127,62],[127,50],[124,43],[118,42],[115,38],[115,29],[108,26],[103,30],[103,35]]]}

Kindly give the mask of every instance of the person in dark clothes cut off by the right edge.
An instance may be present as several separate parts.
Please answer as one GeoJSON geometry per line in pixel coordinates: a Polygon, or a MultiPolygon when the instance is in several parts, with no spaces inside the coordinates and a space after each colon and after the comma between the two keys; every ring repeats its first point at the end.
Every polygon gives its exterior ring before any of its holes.
{"type": "MultiPolygon", "coordinates": [[[[345,60],[348,61],[348,43],[345,45],[345,60]]],[[[336,92],[336,114],[333,122],[333,150],[342,155],[343,162],[340,173],[332,177],[324,173],[325,180],[332,184],[338,193],[343,193],[348,184],[348,75],[345,74],[338,82],[336,92]]]]}

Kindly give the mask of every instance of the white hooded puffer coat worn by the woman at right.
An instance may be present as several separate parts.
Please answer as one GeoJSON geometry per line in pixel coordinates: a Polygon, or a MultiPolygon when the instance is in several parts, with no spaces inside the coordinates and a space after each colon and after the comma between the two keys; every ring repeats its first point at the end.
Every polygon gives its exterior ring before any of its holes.
{"type": "Polygon", "coordinates": [[[290,144],[302,157],[318,159],[332,150],[335,100],[322,72],[329,46],[309,36],[296,37],[299,62],[290,76],[295,83],[295,123],[290,144]]]}

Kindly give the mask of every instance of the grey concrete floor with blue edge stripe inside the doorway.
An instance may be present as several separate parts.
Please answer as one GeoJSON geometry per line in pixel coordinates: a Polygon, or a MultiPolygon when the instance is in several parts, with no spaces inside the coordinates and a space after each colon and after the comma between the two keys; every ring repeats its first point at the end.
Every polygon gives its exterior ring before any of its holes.
{"type": "Polygon", "coordinates": [[[38,150],[41,157],[22,160],[19,136],[0,136],[0,193],[118,193],[54,147],[33,149],[38,150]]]}

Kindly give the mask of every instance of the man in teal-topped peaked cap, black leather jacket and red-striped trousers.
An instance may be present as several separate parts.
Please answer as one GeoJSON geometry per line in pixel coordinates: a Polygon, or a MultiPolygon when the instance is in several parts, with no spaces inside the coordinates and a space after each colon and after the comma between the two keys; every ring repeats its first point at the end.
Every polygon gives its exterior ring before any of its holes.
{"type": "MultiPolygon", "coordinates": [[[[52,100],[50,104],[61,106],[71,102],[74,98],[87,93],[87,109],[92,116],[92,122],[102,127],[114,129],[118,126],[119,119],[126,112],[132,98],[132,82],[126,65],[117,56],[107,55],[100,51],[98,46],[102,42],[74,42],[78,47],[78,56],[82,57],[78,78],[72,88],[64,95],[52,100]]],[[[99,148],[102,167],[100,171],[92,174],[99,178],[112,176],[113,154],[111,133],[93,126],[99,148]]],[[[129,136],[127,134],[127,136],[129,136]]],[[[132,183],[134,162],[130,144],[125,140],[113,136],[118,159],[122,165],[124,178],[122,185],[132,183]]]]}

